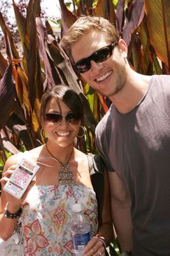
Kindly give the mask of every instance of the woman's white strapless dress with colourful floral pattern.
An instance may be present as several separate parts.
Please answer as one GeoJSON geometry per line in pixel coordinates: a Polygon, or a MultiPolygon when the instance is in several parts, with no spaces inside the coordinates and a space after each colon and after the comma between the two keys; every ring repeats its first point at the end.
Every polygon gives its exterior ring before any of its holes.
{"type": "Polygon", "coordinates": [[[22,204],[23,256],[71,256],[69,220],[72,205],[83,205],[91,237],[97,233],[97,200],[94,190],[76,186],[34,186],[22,204]]]}

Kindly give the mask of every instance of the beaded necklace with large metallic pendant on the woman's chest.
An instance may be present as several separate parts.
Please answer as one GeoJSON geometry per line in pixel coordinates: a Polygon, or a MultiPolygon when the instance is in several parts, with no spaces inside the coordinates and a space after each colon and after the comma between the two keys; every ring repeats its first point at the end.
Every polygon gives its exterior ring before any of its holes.
{"type": "Polygon", "coordinates": [[[73,150],[71,152],[71,155],[69,156],[67,163],[62,163],[59,161],[59,159],[54,157],[52,155],[52,153],[50,153],[46,144],[45,144],[45,146],[46,146],[46,150],[48,151],[48,153],[61,164],[60,170],[59,170],[59,185],[76,185],[76,182],[73,177],[73,170],[70,170],[70,166],[68,164],[69,160],[71,159],[71,156],[73,154],[73,150]]]}

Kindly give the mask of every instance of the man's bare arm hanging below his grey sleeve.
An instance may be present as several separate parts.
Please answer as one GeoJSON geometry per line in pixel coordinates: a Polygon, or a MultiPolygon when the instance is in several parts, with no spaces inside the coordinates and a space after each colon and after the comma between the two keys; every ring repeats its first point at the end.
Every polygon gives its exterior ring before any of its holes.
{"type": "Polygon", "coordinates": [[[122,252],[132,250],[131,199],[117,173],[108,172],[111,190],[111,214],[122,252]]]}

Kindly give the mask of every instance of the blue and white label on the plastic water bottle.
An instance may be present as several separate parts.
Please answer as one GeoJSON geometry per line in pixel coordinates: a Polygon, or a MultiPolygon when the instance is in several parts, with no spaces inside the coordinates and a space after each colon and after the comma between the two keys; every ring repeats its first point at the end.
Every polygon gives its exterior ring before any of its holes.
{"type": "Polygon", "coordinates": [[[72,247],[73,247],[73,255],[74,256],[82,256],[82,250],[86,246],[86,244],[90,241],[90,232],[85,234],[72,234],[72,247]]]}

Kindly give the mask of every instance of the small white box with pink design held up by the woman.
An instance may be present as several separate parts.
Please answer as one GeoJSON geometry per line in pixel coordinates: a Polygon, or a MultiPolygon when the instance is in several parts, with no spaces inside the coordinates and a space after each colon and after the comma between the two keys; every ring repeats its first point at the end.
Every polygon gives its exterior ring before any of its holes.
{"type": "Polygon", "coordinates": [[[36,172],[38,172],[38,169],[39,166],[37,164],[23,158],[3,189],[20,199],[36,175],[36,172]]]}

